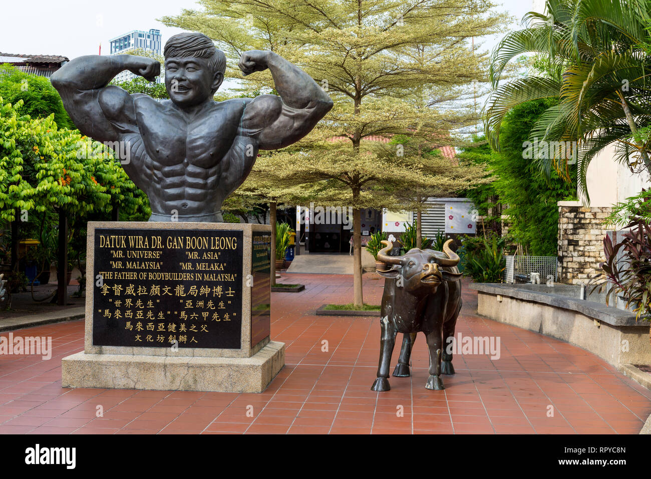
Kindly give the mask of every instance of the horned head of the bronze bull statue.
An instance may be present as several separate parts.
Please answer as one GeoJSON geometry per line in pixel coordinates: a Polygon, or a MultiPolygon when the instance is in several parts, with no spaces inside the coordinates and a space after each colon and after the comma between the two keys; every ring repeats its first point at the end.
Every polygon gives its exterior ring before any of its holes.
{"type": "Polygon", "coordinates": [[[436,291],[443,281],[456,281],[461,274],[446,271],[441,267],[454,267],[459,263],[458,255],[450,250],[452,240],[447,240],[443,245],[443,257],[440,252],[433,250],[419,250],[412,248],[402,256],[389,256],[393,244],[389,241],[382,241],[385,248],[378,252],[378,261],[388,266],[385,270],[377,270],[380,276],[389,279],[402,276],[404,288],[410,293],[428,290],[436,291]],[[439,255],[435,255],[439,253],[439,255]]]}

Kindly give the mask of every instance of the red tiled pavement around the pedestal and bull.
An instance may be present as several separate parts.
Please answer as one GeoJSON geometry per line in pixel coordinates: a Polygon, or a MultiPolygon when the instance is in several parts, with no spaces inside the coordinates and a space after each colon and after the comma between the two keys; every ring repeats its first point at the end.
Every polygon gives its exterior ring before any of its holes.
{"type": "MultiPolygon", "coordinates": [[[[282,281],[306,289],[273,293],[271,336],[286,343],[286,360],[262,394],[61,388],[61,358],[83,349],[83,321],[45,325],[14,335],[52,336],[51,360],[0,356],[0,433],[638,433],[651,413],[651,392],[597,356],[478,317],[467,287],[457,332],[499,336],[499,360],[456,355],[446,389],[430,391],[421,334],[413,376],[372,392],[378,319],[314,315],[326,302],[350,302],[352,276],[282,281]]],[[[365,301],[378,304],[382,285],[365,275],[365,301]]]]}

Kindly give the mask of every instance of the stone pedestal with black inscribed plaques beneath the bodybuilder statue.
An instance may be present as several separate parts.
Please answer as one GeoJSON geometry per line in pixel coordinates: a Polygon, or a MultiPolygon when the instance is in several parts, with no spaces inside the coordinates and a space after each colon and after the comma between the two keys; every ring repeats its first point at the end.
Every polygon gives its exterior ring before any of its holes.
{"type": "Polygon", "coordinates": [[[284,366],[270,243],[269,225],[89,222],[85,349],[62,386],[262,392],[284,366]]]}

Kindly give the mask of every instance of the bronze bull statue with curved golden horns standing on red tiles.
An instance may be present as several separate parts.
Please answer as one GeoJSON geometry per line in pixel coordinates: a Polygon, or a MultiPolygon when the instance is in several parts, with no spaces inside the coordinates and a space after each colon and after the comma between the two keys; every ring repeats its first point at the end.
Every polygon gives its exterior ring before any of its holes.
{"type": "Polygon", "coordinates": [[[408,377],[409,356],[416,333],[425,333],[430,351],[428,389],[444,389],[441,374],[454,374],[452,355],[444,344],[454,337],[456,319],[461,310],[461,274],[457,268],[459,257],[450,250],[452,240],[443,245],[443,252],[413,248],[402,256],[389,256],[393,244],[378,252],[378,261],[386,269],[377,272],[385,279],[382,295],[380,365],[378,378],[371,387],[374,391],[388,391],[389,366],[396,334],[402,332],[402,349],[393,375],[408,377]],[[445,340],[445,342],[444,342],[445,340]]]}

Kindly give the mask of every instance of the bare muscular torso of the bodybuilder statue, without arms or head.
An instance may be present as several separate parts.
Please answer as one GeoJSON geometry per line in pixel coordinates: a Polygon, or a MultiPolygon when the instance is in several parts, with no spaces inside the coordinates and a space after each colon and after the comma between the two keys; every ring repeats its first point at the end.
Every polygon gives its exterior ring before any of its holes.
{"type": "Polygon", "coordinates": [[[221,220],[223,199],[258,152],[242,125],[249,101],[208,102],[187,115],[169,100],[134,97],[137,130],[124,135],[132,163],[123,166],[149,197],[152,220],[221,220]]]}

